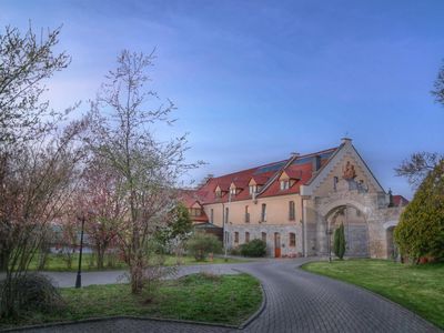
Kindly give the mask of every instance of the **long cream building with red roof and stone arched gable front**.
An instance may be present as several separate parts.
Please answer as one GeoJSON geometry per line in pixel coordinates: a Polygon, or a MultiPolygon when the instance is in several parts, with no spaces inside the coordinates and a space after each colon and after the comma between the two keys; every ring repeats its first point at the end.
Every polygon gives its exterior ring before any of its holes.
{"type": "Polygon", "coordinates": [[[393,229],[407,202],[384,191],[351,139],[209,178],[184,199],[198,228],[223,230],[225,246],[262,239],[275,258],[327,255],[341,223],[345,255],[391,258],[393,229]]]}

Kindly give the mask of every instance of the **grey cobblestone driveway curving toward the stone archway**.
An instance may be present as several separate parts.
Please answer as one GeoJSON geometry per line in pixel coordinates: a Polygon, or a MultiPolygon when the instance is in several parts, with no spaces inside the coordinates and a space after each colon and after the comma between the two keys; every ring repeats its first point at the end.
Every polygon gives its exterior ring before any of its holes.
{"type": "MultiPolygon", "coordinates": [[[[184,268],[261,280],[264,311],[243,332],[442,332],[412,312],[353,285],[295,269],[299,260],[184,268]]],[[[54,274],[52,274],[54,275],[54,274]]],[[[56,278],[56,276],[53,276],[56,278]]],[[[46,327],[33,332],[240,332],[239,330],[151,320],[110,320],[46,327]]]]}

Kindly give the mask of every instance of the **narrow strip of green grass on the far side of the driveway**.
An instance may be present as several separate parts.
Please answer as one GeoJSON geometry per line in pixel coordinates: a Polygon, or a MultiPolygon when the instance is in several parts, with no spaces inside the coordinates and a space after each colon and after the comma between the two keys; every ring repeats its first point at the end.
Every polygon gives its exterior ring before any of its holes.
{"type": "MultiPolygon", "coordinates": [[[[167,255],[165,258],[165,265],[174,265],[176,264],[178,260],[174,255],[167,255]]],[[[214,258],[213,261],[209,259],[205,261],[195,261],[192,256],[183,256],[181,258],[182,265],[200,265],[200,264],[221,264],[221,263],[240,263],[246,262],[245,260],[236,260],[236,259],[228,259],[225,261],[223,258],[214,258]]],[[[50,272],[77,272],[79,264],[79,254],[73,254],[73,261],[71,269],[68,269],[67,263],[60,255],[57,254],[49,254],[47,265],[44,266],[43,271],[50,272]]],[[[30,270],[36,271],[38,266],[38,258],[34,256],[30,264],[30,270]]],[[[108,261],[104,262],[103,270],[125,270],[128,266],[124,262],[120,260],[115,260],[113,265],[108,265],[108,261]]],[[[95,265],[94,255],[91,253],[83,253],[82,255],[82,271],[98,271],[95,265]]]]}

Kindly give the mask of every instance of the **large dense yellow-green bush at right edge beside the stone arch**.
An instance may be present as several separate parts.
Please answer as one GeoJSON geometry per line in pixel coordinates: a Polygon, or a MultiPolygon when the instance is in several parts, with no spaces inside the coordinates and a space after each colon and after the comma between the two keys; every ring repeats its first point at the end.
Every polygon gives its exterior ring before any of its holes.
{"type": "Polygon", "coordinates": [[[394,231],[403,256],[444,260],[444,161],[424,179],[394,231]]]}

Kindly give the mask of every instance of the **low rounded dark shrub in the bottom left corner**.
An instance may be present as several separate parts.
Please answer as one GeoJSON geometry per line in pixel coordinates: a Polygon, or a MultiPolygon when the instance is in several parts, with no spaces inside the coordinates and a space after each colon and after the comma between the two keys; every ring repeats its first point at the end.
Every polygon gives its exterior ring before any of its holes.
{"type": "MultiPolygon", "coordinates": [[[[2,295],[6,292],[14,294],[14,304],[11,304],[13,313],[23,312],[52,312],[64,305],[58,289],[52,285],[51,280],[42,274],[33,273],[19,276],[13,280],[2,281],[0,285],[2,295]]],[[[3,303],[2,304],[2,307],[3,303]]],[[[1,312],[6,309],[3,307],[1,312]]],[[[9,313],[12,314],[12,313],[9,313]]]]}

